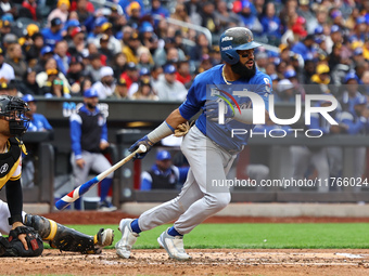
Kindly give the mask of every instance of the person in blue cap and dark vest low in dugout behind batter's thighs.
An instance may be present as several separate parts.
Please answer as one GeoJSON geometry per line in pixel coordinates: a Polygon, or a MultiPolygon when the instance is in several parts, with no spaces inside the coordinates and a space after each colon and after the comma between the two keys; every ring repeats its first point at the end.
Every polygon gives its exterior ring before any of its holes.
{"type": "Polygon", "coordinates": [[[171,163],[171,156],[167,150],[156,154],[155,165],[149,171],[141,173],[141,190],[179,189],[180,183],[187,178],[189,168],[178,168],[171,163]]]}

